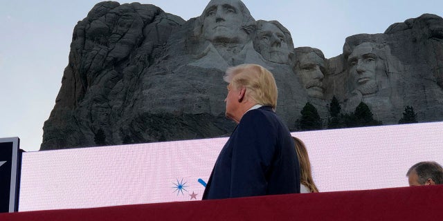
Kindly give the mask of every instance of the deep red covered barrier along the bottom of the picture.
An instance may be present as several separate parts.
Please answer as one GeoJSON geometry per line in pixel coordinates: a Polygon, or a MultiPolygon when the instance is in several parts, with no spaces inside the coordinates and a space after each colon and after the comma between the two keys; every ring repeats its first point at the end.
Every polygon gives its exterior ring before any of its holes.
{"type": "MultiPolygon", "coordinates": [[[[352,180],[350,180],[352,182],[352,180]]],[[[379,180],[383,182],[383,180],[379,180]]],[[[443,220],[443,185],[0,213],[1,221],[443,220]]]]}

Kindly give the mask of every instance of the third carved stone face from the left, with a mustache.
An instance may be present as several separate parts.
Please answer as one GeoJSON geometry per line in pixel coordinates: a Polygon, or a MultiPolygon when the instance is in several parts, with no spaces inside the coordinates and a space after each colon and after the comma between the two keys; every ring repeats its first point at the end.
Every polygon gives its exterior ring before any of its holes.
{"type": "Polygon", "coordinates": [[[296,73],[302,80],[303,87],[310,97],[323,98],[323,78],[325,77],[325,60],[316,52],[299,55],[300,63],[296,73]]]}

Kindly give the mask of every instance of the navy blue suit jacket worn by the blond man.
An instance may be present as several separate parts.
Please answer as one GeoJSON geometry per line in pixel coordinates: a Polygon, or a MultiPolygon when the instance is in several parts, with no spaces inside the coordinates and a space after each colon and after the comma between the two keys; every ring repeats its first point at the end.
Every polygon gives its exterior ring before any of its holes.
{"type": "Polygon", "coordinates": [[[221,149],[203,200],[300,193],[291,134],[272,108],[246,112],[221,149]]]}

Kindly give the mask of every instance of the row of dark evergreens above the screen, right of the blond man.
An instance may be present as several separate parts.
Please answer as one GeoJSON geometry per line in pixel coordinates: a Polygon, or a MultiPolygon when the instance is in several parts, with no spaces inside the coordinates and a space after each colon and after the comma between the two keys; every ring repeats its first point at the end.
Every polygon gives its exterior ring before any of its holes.
{"type": "MultiPolygon", "coordinates": [[[[331,115],[327,119],[327,125],[325,126],[325,128],[328,129],[383,125],[383,122],[374,119],[369,106],[364,102],[360,102],[359,106],[357,106],[352,113],[341,113],[340,103],[338,103],[338,99],[334,96],[329,104],[328,111],[331,115]]],[[[300,113],[302,115],[296,122],[298,130],[313,131],[324,128],[317,109],[309,102],[306,103],[300,113]]],[[[417,114],[414,113],[412,106],[406,106],[403,117],[399,120],[399,124],[411,123],[417,123],[417,114]]]]}

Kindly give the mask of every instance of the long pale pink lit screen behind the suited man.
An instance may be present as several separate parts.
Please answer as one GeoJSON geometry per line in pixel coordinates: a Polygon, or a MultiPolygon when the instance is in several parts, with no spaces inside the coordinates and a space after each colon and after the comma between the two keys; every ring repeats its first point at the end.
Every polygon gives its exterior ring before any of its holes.
{"type": "MultiPolygon", "coordinates": [[[[292,135],[323,192],[408,186],[416,162],[443,163],[443,122],[292,135]]],[[[23,153],[19,211],[201,200],[227,139],[23,153]]]]}

